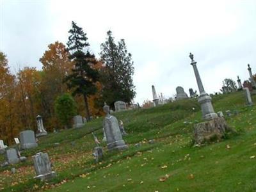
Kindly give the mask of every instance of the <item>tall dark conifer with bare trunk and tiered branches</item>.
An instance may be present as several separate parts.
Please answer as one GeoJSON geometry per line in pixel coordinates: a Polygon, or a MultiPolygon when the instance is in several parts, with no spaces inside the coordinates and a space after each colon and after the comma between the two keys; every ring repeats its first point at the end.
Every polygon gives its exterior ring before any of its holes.
{"type": "Polygon", "coordinates": [[[66,77],[67,85],[73,89],[72,95],[83,95],[86,118],[90,120],[88,97],[97,92],[95,83],[99,79],[98,71],[93,68],[97,63],[95,56],[88,51],[86,33],[72,21],[72,29],[68,31],[68,51],[70,60],[75,63],[72,73],[66,77]],[[84,49],[87,49],[86,52],[84,49]]]}

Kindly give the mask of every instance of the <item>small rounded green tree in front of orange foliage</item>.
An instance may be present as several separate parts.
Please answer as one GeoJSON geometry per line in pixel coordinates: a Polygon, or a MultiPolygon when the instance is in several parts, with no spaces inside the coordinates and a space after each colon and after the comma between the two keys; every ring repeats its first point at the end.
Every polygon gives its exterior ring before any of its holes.
{"type": "Polygon", "coordinates": [[[57,97],[54,106],[61,123],[65,127],[70,128],[72,117],[77,112],[75,100],[68,93],[64,93],[57,97]]]}

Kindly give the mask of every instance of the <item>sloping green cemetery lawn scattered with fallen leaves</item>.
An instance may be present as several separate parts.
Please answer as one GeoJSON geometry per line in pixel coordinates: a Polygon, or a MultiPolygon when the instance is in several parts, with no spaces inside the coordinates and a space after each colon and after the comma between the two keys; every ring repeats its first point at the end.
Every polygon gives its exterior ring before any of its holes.
{"type": "Polygon", "coordinates": [[[195,99],[115,113],[129,133],[124,137],[129,149],[109,153],[104,144],[104,159],[97,164],[91,132],[102,140],[103,118],[51,133],[40,138],[37,148],[22,152],[28,161],[0,168],[0,190],[256,191],[256,107],[244,102],[242,92],[213,97],[215,111],[232,112],[226,120],[237,133],[202,147],[192,142],[193,124],[202,121],[195,99]],[[49,154],[58,175],[51,182],[33,179],[31,156],[36,152],[49,154]],[[17,173],[10,172],[12,167],[17,173]]]}

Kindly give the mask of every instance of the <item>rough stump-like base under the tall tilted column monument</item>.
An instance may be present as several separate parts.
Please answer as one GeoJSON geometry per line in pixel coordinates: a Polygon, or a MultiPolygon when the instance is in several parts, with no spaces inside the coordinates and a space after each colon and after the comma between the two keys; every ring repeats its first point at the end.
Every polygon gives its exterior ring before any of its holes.
{"type": "Polygon", "coordinates": [[[195,143],[202,143],[214,140],[221,140],[225,136],[225,132],[230,131],[223,117],[214,118],[207,122],[195,124],[194,138],[195,143]]]}

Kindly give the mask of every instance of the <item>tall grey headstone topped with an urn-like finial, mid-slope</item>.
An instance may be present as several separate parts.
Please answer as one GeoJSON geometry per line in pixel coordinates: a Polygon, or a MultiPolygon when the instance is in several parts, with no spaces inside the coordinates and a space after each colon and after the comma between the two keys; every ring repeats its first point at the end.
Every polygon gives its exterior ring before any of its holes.
{"type": "Polygon", "coordinates": [[[105,103],[103,107],[106,116],[104,118],[104,130],[107,137],[108,150],[125,150],[128,148],[122,138],[118,120],[115,116],[109,114],[109,106],[105,103]]]}

